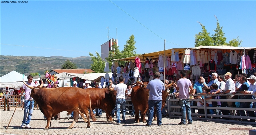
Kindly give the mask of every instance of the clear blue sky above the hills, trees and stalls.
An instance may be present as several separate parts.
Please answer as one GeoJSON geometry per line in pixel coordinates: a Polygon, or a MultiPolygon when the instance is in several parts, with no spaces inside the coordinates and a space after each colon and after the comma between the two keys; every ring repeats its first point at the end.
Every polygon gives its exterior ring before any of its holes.
{"type": "Polygon", "coordinates": [[[163,39],[166,49],[194,47],[194,36],[202,30],[197,21],[214,34],[214,15],[223,26],[227,42],[239,36],[243,47],[256,47],[255,0],[112,2],[1,3],[0,55],[89,56],[88,52],[100,53],[100,45],[108,41],[107,26],[109,39],[116,39],[117,28],[121,50],[132,34],[141,54],[164,50],[163,39]]]}

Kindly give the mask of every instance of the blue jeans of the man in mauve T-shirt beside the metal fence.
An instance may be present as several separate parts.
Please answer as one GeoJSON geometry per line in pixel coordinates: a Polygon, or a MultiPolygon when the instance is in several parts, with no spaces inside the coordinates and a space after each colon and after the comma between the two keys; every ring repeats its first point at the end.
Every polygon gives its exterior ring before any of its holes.
{"type": "Polygon", "coordinates": [[[179,99],[179,104],[181,109],[181,122],[186,124],[186,111],[188,122],[192,122],[189,99],[179,99]]]}

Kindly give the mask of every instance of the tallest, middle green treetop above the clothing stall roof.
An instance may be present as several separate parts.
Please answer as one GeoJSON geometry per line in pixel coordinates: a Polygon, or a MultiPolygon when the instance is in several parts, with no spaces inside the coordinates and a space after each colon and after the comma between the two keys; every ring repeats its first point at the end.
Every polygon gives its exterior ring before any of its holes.
{"type": "MultiPolygon", "coordinates": [[[[214,16],[216,19],[217,17],[214,16]]],[[[215,32],[214,35],[212,35],[212,41],[214,46],[219,46],[219,45],[226,45],[226,37],[224,36],[224,32],[222,31],[222,27],[220,27],[219,20],[217,19],[217,28],[213,30],[215,32]]]]}

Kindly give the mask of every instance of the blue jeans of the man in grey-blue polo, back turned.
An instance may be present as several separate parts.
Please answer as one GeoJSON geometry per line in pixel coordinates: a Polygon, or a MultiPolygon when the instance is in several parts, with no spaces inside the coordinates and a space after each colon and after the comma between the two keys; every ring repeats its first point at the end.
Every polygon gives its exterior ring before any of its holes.
{"type": "Polygon", "coordinates": [[[162,100],[148,100],[148,122],[147,124],[151,125],[153,114],[154,114],[154,108],[156,107],[156,117],[157,117],[157,125],[162,124],[162,114],[161,114],[161,108],[162,108],[162,100]]]}

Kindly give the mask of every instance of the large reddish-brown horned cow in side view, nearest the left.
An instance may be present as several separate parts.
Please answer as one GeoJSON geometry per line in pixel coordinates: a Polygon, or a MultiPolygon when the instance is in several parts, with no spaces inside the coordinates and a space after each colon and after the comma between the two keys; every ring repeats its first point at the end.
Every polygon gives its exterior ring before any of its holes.
{"type": "MultiPolygon", "coordinates": [[[[90,107],[92,112],[90,94],[83,89],[76,87],[42,88],[42,79],[40,88],[34,88],[25,83],[24,80],[23,82],[32,89],[31,97],[37,102],[41,112],[47,118],[47,125],[44,129],[49,129],[51,127],[51,118],[63,111],[67,111],[68,115],[74,111],[74,121],[68,129],[74,127],[79,114],[81,115],[80,110],[85,113],[87,119],[90,118],[88,111],[88,107],[90,107]]],[[[91,113],[91,118],[96,121],[93,113],[91,113]]],[[[87,128],[90,128],[90,120],[88,120],[87,128]]]]}

